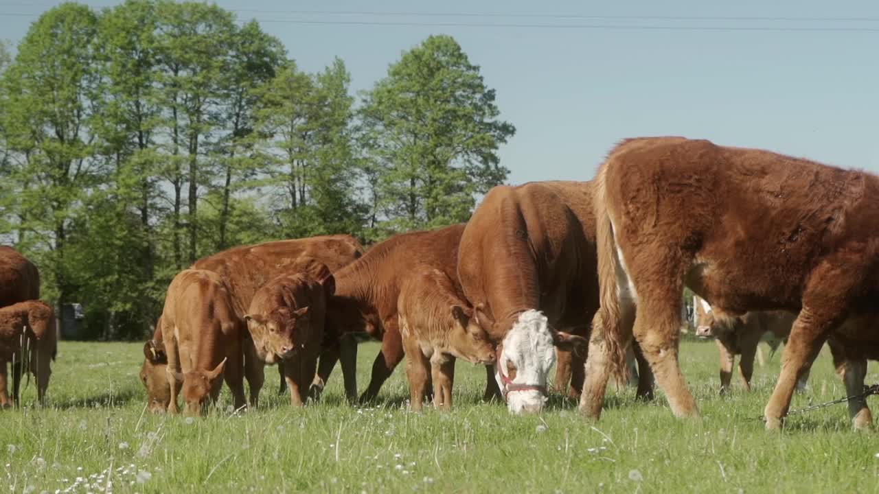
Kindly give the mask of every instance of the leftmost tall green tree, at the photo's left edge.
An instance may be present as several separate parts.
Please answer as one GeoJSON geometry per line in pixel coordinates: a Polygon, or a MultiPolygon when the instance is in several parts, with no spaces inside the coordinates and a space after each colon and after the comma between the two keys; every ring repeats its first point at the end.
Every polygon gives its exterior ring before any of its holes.
{"type": "Polygon", "coordinates": [[[92,51],[97,25],[84,5],[46,11],[31,25],[3,78],[3,127],[16,155],[10,182],[18,243],[41,248],[44,292],[61,303],[74,289],[65,265],[69,222],[84,191],[103,173],[89,127],[97,99],[92,51]]]}

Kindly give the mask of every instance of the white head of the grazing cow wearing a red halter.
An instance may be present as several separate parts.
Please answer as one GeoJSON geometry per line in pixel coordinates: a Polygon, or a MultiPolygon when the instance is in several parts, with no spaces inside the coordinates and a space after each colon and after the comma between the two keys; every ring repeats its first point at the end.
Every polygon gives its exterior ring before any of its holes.
{"type": "Polygon", "coordinates": [[[547,401],[549,368],[556,363],[556,346],[563,350],[585,349],[585,338],[556,331],[540,311],[519,313],[498,345],[495,379],[512,413],[538,412],[547,401]]]}

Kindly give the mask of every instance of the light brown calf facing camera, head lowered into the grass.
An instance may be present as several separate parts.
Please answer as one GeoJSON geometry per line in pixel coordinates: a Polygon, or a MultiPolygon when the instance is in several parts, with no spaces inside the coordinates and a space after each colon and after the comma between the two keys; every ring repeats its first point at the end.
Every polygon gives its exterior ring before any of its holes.
{"type": "Polygon", "coordinates": [[[159,321],[171,388],[168,411],[178,412],[182,387],[186,413],[199,414],[220,395],[222,377],[232,391],[235,408],[243,408],[245,331],[222,277],[197,269],[179,272],[168,287],[159,321]]]}

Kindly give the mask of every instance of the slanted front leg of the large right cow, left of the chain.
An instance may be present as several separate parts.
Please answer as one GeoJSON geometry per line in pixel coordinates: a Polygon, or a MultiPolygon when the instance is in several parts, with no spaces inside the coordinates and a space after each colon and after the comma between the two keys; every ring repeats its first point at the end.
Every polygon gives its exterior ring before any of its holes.
{"type": "MultiPolygon", "coordinates": [[[[821,277],[817,279],[821,280],[821,277]]],[[[811,367],[827,334],[841,318],[840,309],[835,309],[834,312],[836,313],[817,314],[808,305],[804,305],[799,316],[796,316],[794,326],[790,330],[788,345],[785,345],[781,353],[781,374],[764,410],[766,429],[781,429],[783,418],[788,414],[790,398],[794,395],[796,381],[806,369],[811,367]]]]}

